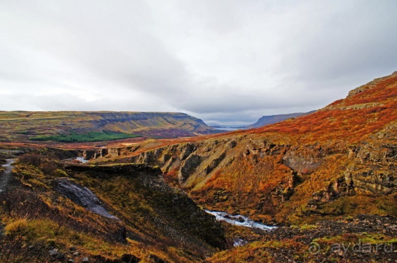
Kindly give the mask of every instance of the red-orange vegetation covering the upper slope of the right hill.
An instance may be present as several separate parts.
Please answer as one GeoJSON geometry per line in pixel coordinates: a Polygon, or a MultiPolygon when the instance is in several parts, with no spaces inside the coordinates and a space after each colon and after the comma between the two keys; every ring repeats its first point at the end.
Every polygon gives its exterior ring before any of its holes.
{"type": "Polygon", "coordinates": [[[376,83],[372,88],[338,100],[313,114],[286,120],[249,132],[306,133],[301,142],[328,139],[356,140],[376,132],[396,119],[397,76],[376,83]],[[365,105],[370,104],[370,105],[365,105]]]}

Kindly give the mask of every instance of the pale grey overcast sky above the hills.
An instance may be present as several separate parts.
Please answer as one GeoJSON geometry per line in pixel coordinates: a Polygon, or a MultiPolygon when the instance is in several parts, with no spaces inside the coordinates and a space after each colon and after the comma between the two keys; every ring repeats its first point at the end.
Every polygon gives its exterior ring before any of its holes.
{"type": "Polygon", "coordinates": [[[397,70],[396,0],[0,0],[0,110],[253,123],[397,70]]]}

